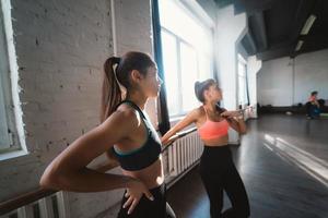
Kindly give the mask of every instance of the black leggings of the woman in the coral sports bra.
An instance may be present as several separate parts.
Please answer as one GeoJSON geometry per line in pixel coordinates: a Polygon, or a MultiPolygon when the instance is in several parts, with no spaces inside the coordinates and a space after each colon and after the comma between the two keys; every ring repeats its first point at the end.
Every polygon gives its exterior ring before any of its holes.
{"type": "Polygon", "coordinates": [[[200,175],[210,198],[211,218],[249,217],[247,193],[229,146],[204,146],[200,159],[200,175]],[[232,208],[222,214],[223,191],[227,194],[232,208]]]}

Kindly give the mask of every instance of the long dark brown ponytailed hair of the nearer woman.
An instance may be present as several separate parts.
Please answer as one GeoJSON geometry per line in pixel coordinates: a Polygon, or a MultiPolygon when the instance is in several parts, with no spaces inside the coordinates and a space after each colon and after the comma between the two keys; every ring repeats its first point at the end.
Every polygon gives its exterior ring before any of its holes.
{"type": "Polygon", "coordinates": [[[138,51],[127,52],[121,58],[110,57],[105,61],[101,122],[104,122],[122,100],[119,84],[127,92],[132,88],[132,84],[130,83],[131,71],[137,70],[145,75],[147,70],[154,65],[155,63],[149,55],[138,51]]]}

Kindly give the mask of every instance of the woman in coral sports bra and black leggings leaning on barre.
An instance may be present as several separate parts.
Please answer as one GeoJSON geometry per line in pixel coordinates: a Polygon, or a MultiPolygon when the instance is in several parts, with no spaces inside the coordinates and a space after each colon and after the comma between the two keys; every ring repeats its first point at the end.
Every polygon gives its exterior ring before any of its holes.
{"type": "Polygon", "coordinates": [[[239,111],[226,111],[220,108],[222,92],[212,78],[196,82],[195,94],[202,106],[194,109],[172,128],[162,137],[162,143],[169,144],[176,138],[177,132],[195,123],[204,144],[200,158],[200,177],[210,198],[211,217],[247,218],[249,217],[248,197],[227,146],[229,128],[242,134],[246,133],[243,114],[239,111]],[[232,208],[224,213],[221,211],[223,191],[226,192],[232,203],[232,208]]]}

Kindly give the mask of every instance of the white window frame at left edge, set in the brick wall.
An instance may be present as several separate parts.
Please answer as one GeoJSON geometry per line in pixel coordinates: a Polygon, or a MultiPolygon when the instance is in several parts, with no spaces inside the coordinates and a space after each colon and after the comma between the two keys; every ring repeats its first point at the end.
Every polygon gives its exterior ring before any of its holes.
{"type": "MultiPolygon", "coordinates": [[[[7,145],[0,145],[0,161],[27,155],[25,132],[23,126],[22,108],[19,93],[19,66],[14,48],[14,37],[11,19],[10,1],[0,1],[0,95],[3,99],[3,109],[7,131],[7,145]]],[[[1,116],[1,114],[0,114],[1,116]]],[[[3,116],[3,114],[2,114],[3,116]]],[[[1,143],[1,142],[0,142],[1,143]]]]}

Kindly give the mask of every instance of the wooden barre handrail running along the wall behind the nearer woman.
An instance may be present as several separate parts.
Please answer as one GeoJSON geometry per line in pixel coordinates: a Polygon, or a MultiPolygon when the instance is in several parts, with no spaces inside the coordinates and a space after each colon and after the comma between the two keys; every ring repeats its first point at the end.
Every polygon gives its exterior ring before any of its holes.
{"type": "MultiPolygon", "coordinates": [[[[172,142],[162,149],[162,153],[164,150],[166,150],[169,146],[172,146],[176,140],[181,138],[181,137],[190,134],[191,132],[195,132],[196,130],[197,130],[196,128],[191,128],[189,130],[181,131],[181,132],[177,133],[176,135],[174,135],[173,137],[171,137],[172,142]]],[[[36,202],[40,198],[50,196],[57,192],[58,191],[45,190],[43,187],[39,187],[35,191],[28,192],[26,194],[11,198],[9,201],[1,202],[0,203],[0,216],[5,215],[14,209],[25,206],[25,205],[28,205],[33,202],[36,202]]]]}

